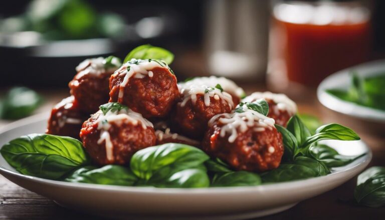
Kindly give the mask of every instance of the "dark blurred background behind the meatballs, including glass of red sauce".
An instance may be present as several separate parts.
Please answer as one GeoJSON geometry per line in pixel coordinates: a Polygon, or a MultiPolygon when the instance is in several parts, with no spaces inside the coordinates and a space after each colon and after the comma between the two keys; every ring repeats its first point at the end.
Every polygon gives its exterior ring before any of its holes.
{"type": "Polygon", "coordinates": [[[380,0],[1,1],[0,96],[25,86],[56,102],[84,59],[152,44],[175,54],[179,81],[225,76],[300,102],[326,76],[385,57],[383,11],[380,0]]]}

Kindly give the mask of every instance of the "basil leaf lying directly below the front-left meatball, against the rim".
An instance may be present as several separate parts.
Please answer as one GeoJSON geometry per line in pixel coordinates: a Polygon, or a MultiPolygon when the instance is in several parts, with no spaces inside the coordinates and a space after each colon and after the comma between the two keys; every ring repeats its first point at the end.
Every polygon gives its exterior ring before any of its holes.
{"type": "Polygon", "coordinates": [[[120,165],[106,165],[101,168],[86,166],[72,172],[64,181],[132,186],[137,177],[129,168],[120,165]]]}

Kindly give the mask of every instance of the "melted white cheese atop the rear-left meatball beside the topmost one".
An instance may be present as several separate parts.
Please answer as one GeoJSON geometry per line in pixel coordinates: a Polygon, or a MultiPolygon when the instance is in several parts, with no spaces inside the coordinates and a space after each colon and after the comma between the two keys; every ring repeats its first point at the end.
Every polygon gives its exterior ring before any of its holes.
{"type": "MultiPolygon", "coordinates": [[[[118,62],[117,59],[112,59],[112,62],[118,62]]],[[[118,66],[119,63],[113,63],[115,66],[118,66]]],[[[117,67],[110,67],[108,69],[104,68],[104,58],[98,57],[98,58],[91,58],[86,59],[83,62],[81,62],[76,68],[76,72],[78,72],[79,76],[83,76],[85,74],[93,74],[96,76],[99,76],[103,73],[107,72],[114,72],[117,67]]]]}

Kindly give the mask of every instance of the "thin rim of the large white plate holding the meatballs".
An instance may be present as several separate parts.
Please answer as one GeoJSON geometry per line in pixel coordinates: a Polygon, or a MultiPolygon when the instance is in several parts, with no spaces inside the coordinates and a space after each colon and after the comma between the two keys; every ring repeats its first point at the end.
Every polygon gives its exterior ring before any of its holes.
{"type": "MultiPolygon", "coordinates": [[[[8,132],[10,130],[16,129],[23,125],[46,120],[46,118],[47,118],[47,112],[44,112],[41,114],[33,115],[30,117],[15,121],[13,123],[6,125],[3,128],[0,128],[0,135],[3,134],[4,132],[8,132]]],[[[362,140],[359,140],[359,141],[366,148],[367,152],[365,155],[359,158],[362,160],[362,162],[357,163],[351,167],[348,167],[344,170],[337,170],[325,176],[311,177],[307,179],[292,180],[292,181],[278,182],[278,183],[271,183],[271,184],[262,184],[257,186],[231,186],[231,187],[207,187],[207,188],[156,188],[151,186],[146,186],[146,187],[119,186],[119,185],[101,185],[101,184],[93,184],[93,183],[65,182],[65,181],[51,180],[51,179],[45,179],[45,178],[40,178],[35,176],[24,175],[19,172],[9,170],[3,167],[1,164],[0,164],[0,174],[3,174],[4,172],[19,178],[28,179],[28,180],[38,182],[38,183],[43,183],[43,184],[56,185],[60,187],[74,187],[74,188],[81,188],[81,189],[88,189],[88,190],[101,190],[101,191],[111,190],[111,191],[121,191],[121,192],[131,192],[131,193],[184,195],[184,194],[217,194],[217,193],[240,193],[240,192],[251,192],[251,191],[272,191],[280,188],[281,189],[297,188],[298,185],[304,185],[304,184],[306,185],[318,184],[320,179],[324,179],[327,181],[328,179],[338,178],[336,176],[340,175],[341,173],[346,173],[348,171],[353,171],[359,168],[364,169],[369,164],[372,158],[372,151],[362,140]]],[[[2,155],[0,156],[3,157],[2,155]]]]}

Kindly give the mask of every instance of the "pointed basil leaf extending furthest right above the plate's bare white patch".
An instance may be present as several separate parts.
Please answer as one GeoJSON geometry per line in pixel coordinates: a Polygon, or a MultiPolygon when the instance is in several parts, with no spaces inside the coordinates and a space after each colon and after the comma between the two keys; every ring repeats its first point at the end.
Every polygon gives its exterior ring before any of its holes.
{"type": "Polygon", "coordinates": [[[326,124],[319,127],[315,134],[306,138],[301,148],[309,147],[319,140],[359,140],[359,136],[350,128],[339,124],[326,124]]]}

